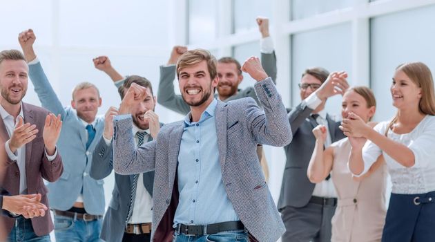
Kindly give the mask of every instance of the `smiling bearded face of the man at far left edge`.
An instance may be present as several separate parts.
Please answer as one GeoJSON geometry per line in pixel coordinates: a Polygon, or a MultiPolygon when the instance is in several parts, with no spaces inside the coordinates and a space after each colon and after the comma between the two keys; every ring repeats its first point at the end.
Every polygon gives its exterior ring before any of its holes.
{"type": "Polygon", "coordinates": [[[0,88],[2,102],[19,104],[26,95],[28,65],[24,60],[5,59],[0,63],[0,88]]]}

